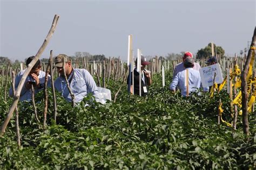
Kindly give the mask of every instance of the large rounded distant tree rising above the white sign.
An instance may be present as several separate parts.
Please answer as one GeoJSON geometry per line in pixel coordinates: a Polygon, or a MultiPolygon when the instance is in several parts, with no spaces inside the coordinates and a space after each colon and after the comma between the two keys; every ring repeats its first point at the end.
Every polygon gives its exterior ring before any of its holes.
{"type": "MultiPolygon", "coordinates": [[[[220,56],[224,56],[225,50],[221,46],[214,45],[214,53],[217,52],[217,54],[220,54],[220,56]]],[[[216,54],[215,54],[216,55],[216,54]]],[[[212,56],[212,44],[209,43],[205,48],[201,48],[197,52],[197,58],[201,59],[203,57],[209,58],[212,56]]]]}

